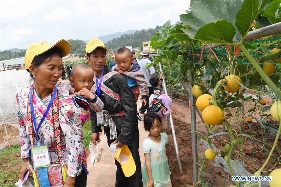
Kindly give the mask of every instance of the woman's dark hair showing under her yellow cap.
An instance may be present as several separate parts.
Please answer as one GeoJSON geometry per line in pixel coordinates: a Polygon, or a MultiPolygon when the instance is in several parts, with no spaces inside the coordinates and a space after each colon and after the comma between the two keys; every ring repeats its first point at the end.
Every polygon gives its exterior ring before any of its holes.
{"type": "MultiPolygon", "coordinates": [[[[44,52],[43,54],[35,56],[31,64],[34,65],[35,67],[38,67],[46,59],[48,59],[50,57],[52,58],[55,54],[58,54],[61,58],[63,58],[63,56],[64,56],[63,49],[61,49],[59,47],[53,47],[52,49],[44,52]]],[[[30,73],[30,71],[28,69],[27,69],[27,71],[30,73]]],[[[30,77],[33,78],[32,73],[30,73],[30,77]]]]}

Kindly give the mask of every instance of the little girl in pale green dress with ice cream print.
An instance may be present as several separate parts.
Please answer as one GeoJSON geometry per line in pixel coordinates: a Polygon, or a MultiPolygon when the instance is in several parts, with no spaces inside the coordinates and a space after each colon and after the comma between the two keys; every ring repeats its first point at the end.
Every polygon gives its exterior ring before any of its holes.
{"type": "Polygon", "coordinates": [[[148,112],[143,118],[144,129],[149,132],[142,144],[145,163],[143,164],[143,186],[166,186],[170,181],[168,135],[162,131],[162,119],[148,112]]]}

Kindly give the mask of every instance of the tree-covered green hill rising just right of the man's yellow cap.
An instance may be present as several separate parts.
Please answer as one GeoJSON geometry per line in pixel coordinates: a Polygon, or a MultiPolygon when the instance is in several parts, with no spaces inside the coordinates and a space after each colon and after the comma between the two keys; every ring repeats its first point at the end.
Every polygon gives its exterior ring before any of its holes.
{"type": "Polygon", "coordinates": [[[156,26],[155,28],[142,29],[131,34],[123,34],[117,38],[113,38],[105,43],[105,46],[108,49],[116,50],[120,47],[125,47],[126,45],[131,45],[133,48],[141,48],[143,41],[148,41],[153,38],[153,34],[156,33],[158,29],[161,29],[162,26],[156,26]]]}

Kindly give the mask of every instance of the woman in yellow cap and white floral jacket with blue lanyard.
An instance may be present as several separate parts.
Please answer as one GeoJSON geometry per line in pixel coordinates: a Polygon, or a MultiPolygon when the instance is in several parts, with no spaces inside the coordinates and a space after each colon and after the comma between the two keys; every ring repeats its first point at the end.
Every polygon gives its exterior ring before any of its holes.
{"type": "Polygon", "coordinates": [[[70,50],[70,44],[60,40],[52,45],[41,41],[26,51],[25,65],[34,83],[16,95],[23,158],[19,178],[23,180],[27,171],[32,172],[32,163],[35,186],[52,186],[54,181],[64,187],[87,183],[79,111],[68,90],[57,84],[62,57],[70,50]]]}

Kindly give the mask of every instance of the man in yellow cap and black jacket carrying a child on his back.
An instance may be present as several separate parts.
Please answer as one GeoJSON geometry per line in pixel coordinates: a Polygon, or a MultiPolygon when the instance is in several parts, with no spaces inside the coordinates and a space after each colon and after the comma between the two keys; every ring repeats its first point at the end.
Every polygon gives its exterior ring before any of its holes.
{"type": "Polygon", "coordinates": [[[136,164],[136,172],[127,178],[123,174],[120,163],[115,160],[117,166],[115,186],[141,187],[143,183],[138,152],[137,105],[126,79],[118,72],[110,71],[105,65],[107,51],[98,38],[86,44],[85,58],[95,74],[91,91],[95,92],[104,103],[103,113],[90,111],[92,142],[95,144],[100,142],[99,132],[102,130],[98,124],[104,123],[103,129],[108,139],[108,146],[111,143],[117,143],[118,147],[127,145],[136,164]]]}

